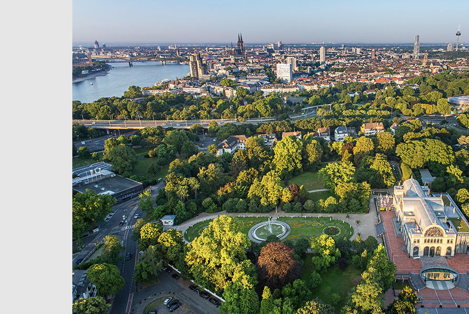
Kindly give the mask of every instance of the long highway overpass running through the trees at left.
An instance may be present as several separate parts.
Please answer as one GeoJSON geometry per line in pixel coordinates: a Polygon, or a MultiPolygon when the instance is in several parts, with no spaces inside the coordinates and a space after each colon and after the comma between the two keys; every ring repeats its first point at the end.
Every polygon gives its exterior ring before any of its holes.
{"type": "Polygon", "coordinates": [[[244,122],[238,122],[236,119],[212,119],[212,120],[72,120],[82,126],[90,126],[99,129],[142,129],[145,127],[161,126],[174,127],[176,129],[188,129],[195,124],[200,124],[203,128],[208,128],[211,121],[216,121],[218,126],[226,123],[240,124],[260,124],[275,121],[274,117],[246,119],[244,122]]]}

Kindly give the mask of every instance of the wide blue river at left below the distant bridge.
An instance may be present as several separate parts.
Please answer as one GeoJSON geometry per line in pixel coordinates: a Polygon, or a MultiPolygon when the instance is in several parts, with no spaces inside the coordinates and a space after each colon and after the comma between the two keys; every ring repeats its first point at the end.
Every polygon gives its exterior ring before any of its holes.
{"type": "Polygon", "coordinates": [[[189,65],[161,62],[109,63],[107,74],[72,83],[72,99],[93,102],[101,97],[122,96],[129,86],[153,86],[164,79],[181,78],[189,73],[189,65]],[[90,83],[93,83],[91,85],[90,83]]]}

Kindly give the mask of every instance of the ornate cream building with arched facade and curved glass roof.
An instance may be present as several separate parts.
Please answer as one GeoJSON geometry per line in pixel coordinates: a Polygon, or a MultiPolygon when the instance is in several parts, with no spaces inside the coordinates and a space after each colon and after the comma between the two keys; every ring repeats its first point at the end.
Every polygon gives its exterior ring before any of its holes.
{"type": "Polygon", "coordinates": [[[394,187],[393,206],[409,256],[454,256],[468,251],[469,232],[458,232],[453,224],[468,225],[468,221],[448,193],[431,194],[428,186],[411,178],[394,187]]]}

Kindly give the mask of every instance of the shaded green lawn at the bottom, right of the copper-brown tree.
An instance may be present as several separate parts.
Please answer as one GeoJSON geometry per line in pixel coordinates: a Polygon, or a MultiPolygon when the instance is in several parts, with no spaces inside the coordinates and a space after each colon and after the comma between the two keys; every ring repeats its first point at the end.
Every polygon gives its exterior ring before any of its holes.
{"type": "MultiPolygon", "coordinates": [[[[311,257],[312,254],[306,254],[304,258],[301,279],[306,282],[309,281],[309,274],[311,274],[314,268],[311,263],[311,257]]],[[[312,297],[319,298],[325,303],[333,305],[335,313],[339,313],[340,309],[344,306],[347,292],[360,283],[360,273],[359,269],[351,265],[343,271],[338,266],[331,267],[326,272],[320,274],[322,283],[311,290],[312,297]],[[340,301],[337,304],[334,304],[332,301],[332,293],[337,293],[340,296],[340,301]]]]}

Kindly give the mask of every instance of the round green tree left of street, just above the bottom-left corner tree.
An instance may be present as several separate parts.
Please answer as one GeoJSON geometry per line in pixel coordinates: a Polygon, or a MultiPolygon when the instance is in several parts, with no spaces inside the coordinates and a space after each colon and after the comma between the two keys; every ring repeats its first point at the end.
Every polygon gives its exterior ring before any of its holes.
{"type": "Polygon", "coordinates": [[[94,264],[88,268],[86,277],[97,289],[97,295],[106,298],[124,287],[124,278],[116,265],[107,263],[94,264]]]}

